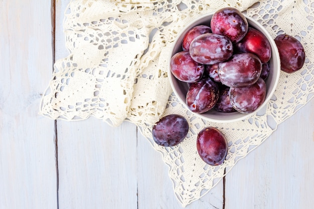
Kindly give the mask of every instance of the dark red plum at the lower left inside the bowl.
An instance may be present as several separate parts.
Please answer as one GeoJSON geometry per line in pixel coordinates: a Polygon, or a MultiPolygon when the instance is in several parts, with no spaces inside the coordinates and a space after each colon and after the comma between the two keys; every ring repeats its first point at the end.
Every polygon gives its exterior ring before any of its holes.
{"type": "Polygon", "coordinates": [[[204,113],[215,106],[218,98],[218,85],[210,78],[205,77],[190,86],[186,103],[192,112],[204,113]]]}

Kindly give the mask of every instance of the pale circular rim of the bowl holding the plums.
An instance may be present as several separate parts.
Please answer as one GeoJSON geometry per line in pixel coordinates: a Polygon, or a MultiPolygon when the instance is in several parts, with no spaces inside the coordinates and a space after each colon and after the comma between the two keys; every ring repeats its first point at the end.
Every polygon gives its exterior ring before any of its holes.
{"type": "MultiPolygon", "coordinates": [[[[185,26],[181,31],[180,33],[178,33],[176,39],[174,40],[174,42],[172,43],[172,47],[170,49],[170,55],[169,55],[169,60],[171,60],[172,56],[175,54],[174,51],[175,51],[175,48],[177,46],[177,42],[179,41],[179,39],[181,37],[184,36],[185,33],[188,32],[189,29],[192,29],[194,26],[197,26],[199,24],[196,24],[198,22],[201,22],[201,21],[205,21],[205,19],[209,19],[211,20],[211,17],[210,16],[213,16],[215,12],[210,12],[210,13],[207,13],[207,14],[204,14],[196,19],[194,19],[192,22],[190,22],[187,26],[185,26]],[[209,18],[210,17],[210,18],[209,18]]],[[[172,73],[171,73],[171,70],[170,70],[170,63],[169,62],[169,66],[168,66],[168,73],[169,73],[169,79],[170,79],[170,85],[171,85],[171,88],[173,90],[173,92],[175,93],[175,95],[177,96],[178,100],[180,101],[180,103],[183,104],[183,106],[189,111],[191,112],[192,114],[194,114],[195,116],[198,116],[202,119],[205,119],[207,121],[211,121],[211,122],[217,122],[217,123],[231,123],[231,122],[236,122],[236,121],[240,121],[240,120],[245,120],[249,117],[251,117],[252,115],[254,114],[257,114],[260,110],[262,110],[263,108],[266,107],[266,105],[268,104],[269,100],[271,99],[271,97],[273,96],[276,88],[277,88],[277,85],[278,85],[278,82],[279,82],[279,77],[280,77],[280,57],[279,57],[279,52],[278,52],[278,49],[277,49],[277,46],[273,40],[273,38],[270,36],[270,34],[268,33],[268,31],[265,29],[265,27],[263,27],[260,23],[258,23],[255,19],[253,19],[252,17],[249,17],[248,15],[242,13],[244,15],[244,17],[247,19],[248,21],[248,24],[249,24],[249,27],[253,27],[259,31],[262,31],[263,35],[266,36],[267,40],[269,41],[270,45],[271,45],[271,58],[270,59],[273,59],[273,56],[276,57],[276,62],[275,62],[275,65],[277,66],[277,69],[276,69],[276,77],[275,77],[275,80],[273,81],[273,88],[270,89],[270,91],[268,92],[268,89],[267,89],[267,93],[266,93],[266,97],[265,97],[265,100],[264,102],[262,103],[262,105],[260,105],[255,111],[251,112],[251,113],[240,113],[240,112],[234,112],[234,113],[226,113],[226,114],[236,114],[236,115],[239,115],[235,118],[231,118],[231,119],[215,119],[215,118],[210,118],[210,117],[207,117],[205,116],[203,113],[195,113],[195,112],[192,112],[187,104],[186,104],[186,101],[182,100],[182,98],[179,96],[176,88],[175,88],[175,85],[174,85],[174,81],[173,79],[176,79],[172,73]]],[[[211,110],[210,110],[211,111],[211,110]]],[[[220,114],[220,112],[217,112],[217,114],[220,114]]],[[[221,113],[222,114],[222,113],[221,113]]]]}

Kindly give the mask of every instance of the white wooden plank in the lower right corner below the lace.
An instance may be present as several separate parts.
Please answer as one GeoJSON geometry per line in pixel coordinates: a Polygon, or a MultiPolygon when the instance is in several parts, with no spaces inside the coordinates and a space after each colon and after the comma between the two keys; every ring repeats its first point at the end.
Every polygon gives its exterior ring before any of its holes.
{"type": "Polygon", "coordinates": [[[226,176],[227,208],[311,208],[314,100],[278,126],[226,176]]]}

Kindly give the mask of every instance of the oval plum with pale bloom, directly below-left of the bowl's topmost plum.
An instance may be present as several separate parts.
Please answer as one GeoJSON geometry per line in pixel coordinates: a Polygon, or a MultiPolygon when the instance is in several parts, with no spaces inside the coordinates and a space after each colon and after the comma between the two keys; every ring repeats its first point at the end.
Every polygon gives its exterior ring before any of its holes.
{"type": "Polygon", "coordinates": [[[190,45],[193,60],[205,65],[213,65],[228,60],[233,54],[231,41],[217,34],[203,34],[196,37],[190,45]]]}

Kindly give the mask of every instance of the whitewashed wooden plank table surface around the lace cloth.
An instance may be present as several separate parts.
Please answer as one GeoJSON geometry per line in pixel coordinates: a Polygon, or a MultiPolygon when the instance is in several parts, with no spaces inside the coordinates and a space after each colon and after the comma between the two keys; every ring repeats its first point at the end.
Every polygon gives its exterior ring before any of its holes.
{"type": "MultiPolygon", "coordinates": [[[[68,2],[0,0],[0,208],[181,208],[135,125],[38,115],[68,2]]],[[[313,208],[313,134],[311,100],[186,208],[313,208]]]]}

